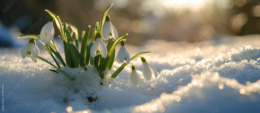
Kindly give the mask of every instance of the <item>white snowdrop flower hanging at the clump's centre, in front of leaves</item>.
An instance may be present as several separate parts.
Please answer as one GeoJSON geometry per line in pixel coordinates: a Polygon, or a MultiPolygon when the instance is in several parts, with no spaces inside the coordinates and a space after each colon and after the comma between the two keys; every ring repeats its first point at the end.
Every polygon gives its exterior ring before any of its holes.
{"type": "Polygon", "coordinates": [[[90,55],[91,57],[95,57],[98,54],[101,54],[104,58],[107,57],[107,47],[104,44],[104,42],[101,39],[101,34],[99,32],[96,33],[97,39],[93,43],[91,49],[90,49],[90,55]]]}

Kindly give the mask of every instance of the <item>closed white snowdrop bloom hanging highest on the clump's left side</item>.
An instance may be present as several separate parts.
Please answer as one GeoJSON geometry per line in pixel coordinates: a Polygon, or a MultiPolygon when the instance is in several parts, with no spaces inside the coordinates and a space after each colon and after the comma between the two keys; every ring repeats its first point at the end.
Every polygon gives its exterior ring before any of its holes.
{"type": "Polygon", "coordinates": [[[53,28],[54,18],[51,17],[49,22],[42,27],[40,33],[40,40],[42,43],[50,42],[54,37],[54,28],[53,28]]]}

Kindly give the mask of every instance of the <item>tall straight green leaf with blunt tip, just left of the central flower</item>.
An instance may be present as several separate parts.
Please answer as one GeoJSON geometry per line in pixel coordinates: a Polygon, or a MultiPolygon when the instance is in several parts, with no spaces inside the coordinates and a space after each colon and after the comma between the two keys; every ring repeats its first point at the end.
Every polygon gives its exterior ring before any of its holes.
{"type": "Polygon", "coordinates": [[[90,31],[90,26],[88,26],[88,28],[85,32],[85,35],[83,37],[83,40],[82,40],[80,54],[81,54],[83,59],[85,59],[85,56],[86,56],[86,48],[87,48],[87,43],[88,43],[89,31],[90,31]]]}

